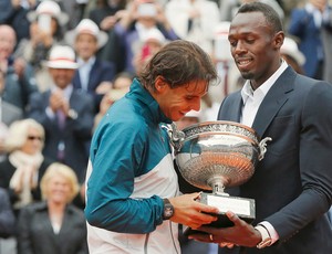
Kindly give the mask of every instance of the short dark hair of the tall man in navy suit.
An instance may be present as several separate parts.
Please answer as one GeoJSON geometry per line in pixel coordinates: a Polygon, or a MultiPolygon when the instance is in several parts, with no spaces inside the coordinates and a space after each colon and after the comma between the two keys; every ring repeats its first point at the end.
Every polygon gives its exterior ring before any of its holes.
{"type": "Polygon", "coordinates": [[[280,20],[279,14],[273,10],[272,7],[262,3],[262,2],[249,2],[243,3],[237,13],[247,13],[247,12],[261,12],[267,23],[271,27],[273,32],[280,32],[283,31],[282,22],[280,20]]]}

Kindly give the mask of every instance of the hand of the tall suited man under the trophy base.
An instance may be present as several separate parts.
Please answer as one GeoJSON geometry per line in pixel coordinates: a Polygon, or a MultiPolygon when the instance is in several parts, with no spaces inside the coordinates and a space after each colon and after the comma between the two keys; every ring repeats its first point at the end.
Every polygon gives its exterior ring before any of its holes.
{"type": "Polygon", "coordinates": [[[228,211],[226,215],[234,222],[229,227],[203,225],[188,237],[206,243],[218,243],[220,247],[235,245],[255,247],[261,241],[261,234],[251,224],[228,211]]]}

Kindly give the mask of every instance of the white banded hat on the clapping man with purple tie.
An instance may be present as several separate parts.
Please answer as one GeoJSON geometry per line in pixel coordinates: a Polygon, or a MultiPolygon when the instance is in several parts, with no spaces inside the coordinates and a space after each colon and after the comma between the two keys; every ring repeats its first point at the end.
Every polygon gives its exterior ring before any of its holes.
{"type": "Polygon", "coordinates": [[[74,50],[68,45],[53,46],[46,66],[51,68],[77,68],[74,50]]]}

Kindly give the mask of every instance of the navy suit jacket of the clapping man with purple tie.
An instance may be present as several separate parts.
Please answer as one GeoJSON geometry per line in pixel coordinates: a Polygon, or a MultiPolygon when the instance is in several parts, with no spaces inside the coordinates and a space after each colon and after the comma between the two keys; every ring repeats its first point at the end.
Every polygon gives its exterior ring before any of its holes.
{"type": "Polygon", "coordinates": [[[77,174],[83,182],[87,165],[86,145],[91,140],[93,126],[93,100],[82,91],[73,89],[70,97],[70,107],[76,112],[76,118],[68,117],[65,127],[61,129],[55,119],[50,119],[45,113],[49,106],[51,92],[35,93],[31,96],[29,117],[39,121],[45,129],[45,145],[43,154],[58,160],[58,145],[65,145],[64,162],[77,174]]]}

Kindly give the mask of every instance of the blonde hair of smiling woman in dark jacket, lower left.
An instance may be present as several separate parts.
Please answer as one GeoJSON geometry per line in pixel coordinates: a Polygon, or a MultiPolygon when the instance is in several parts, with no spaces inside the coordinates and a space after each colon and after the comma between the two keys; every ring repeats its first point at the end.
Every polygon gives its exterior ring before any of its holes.
{"type": "Polygon", "coordinates": [[[49,182],[52,178],[54,178],[56,176],[63,177],[69,182],[71,192],[68,197],[66,202],[68,203],[72,202],[73,199],[79,193],[79,190],[80,190],[79,180],[77,180],[77,177],[76,177],[76,174],[75,174],[75,172],[72,168],[70,168],[66,165],[60,163],[60,162],[51,163],[48,167],[44,176],[42,177],[41,182],[40,182],[40,189],[41,189],[41,192],[42,192],[42,198],[44,200],[46,200],[49,198],[49,193],[48,193],[49,182]]]}

